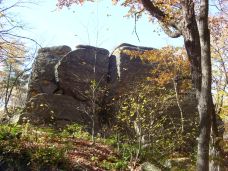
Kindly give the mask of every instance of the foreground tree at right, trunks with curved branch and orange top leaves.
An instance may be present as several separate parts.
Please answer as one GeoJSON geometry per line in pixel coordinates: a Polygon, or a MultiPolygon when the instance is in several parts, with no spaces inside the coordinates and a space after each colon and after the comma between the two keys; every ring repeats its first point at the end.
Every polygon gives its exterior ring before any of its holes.
{"type": "MultiPolygon", "coordinates": [[[[86,0],[58,0],[58,6],[82,4],[86,0]]],[[[93,1],[93,0],[87,0],[93,1]]],[[[191,65],[192,82],[198,101],[199,138],[197,170],[209,170],[211,126],[216,134],[215,109],[211,94],[211,50],[208,27],[209,1],[200,0],[112,0],[129,7],[130,15],[149,14],[172,38],[183,36],[191,65]],[[213,121],[213,122],[212,122],[213,121]]]]}

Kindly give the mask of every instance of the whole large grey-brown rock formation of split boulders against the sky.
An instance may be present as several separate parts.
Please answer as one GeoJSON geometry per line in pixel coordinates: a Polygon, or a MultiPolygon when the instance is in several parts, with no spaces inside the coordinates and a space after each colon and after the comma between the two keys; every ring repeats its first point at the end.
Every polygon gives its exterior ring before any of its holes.
{"type": "MultiPolygon", "coordinates": [[[[107,110],[112,116],[118,110],[117,101],[111,101],[145,82],[156,67],[156,63],[126,54],[126,50],[144,52],[153,48],[122,44],[110,56],[106,49],[83,45],[74,51],[67,46],[40,49],[20,120],[57,126],[77,122],[91,127],[94,123],[98,129],[101,120],[107,119],[107,110]]],[[[194,103],[187,106],[191,107],[188,113],[195,110],[194,103]]]]}

